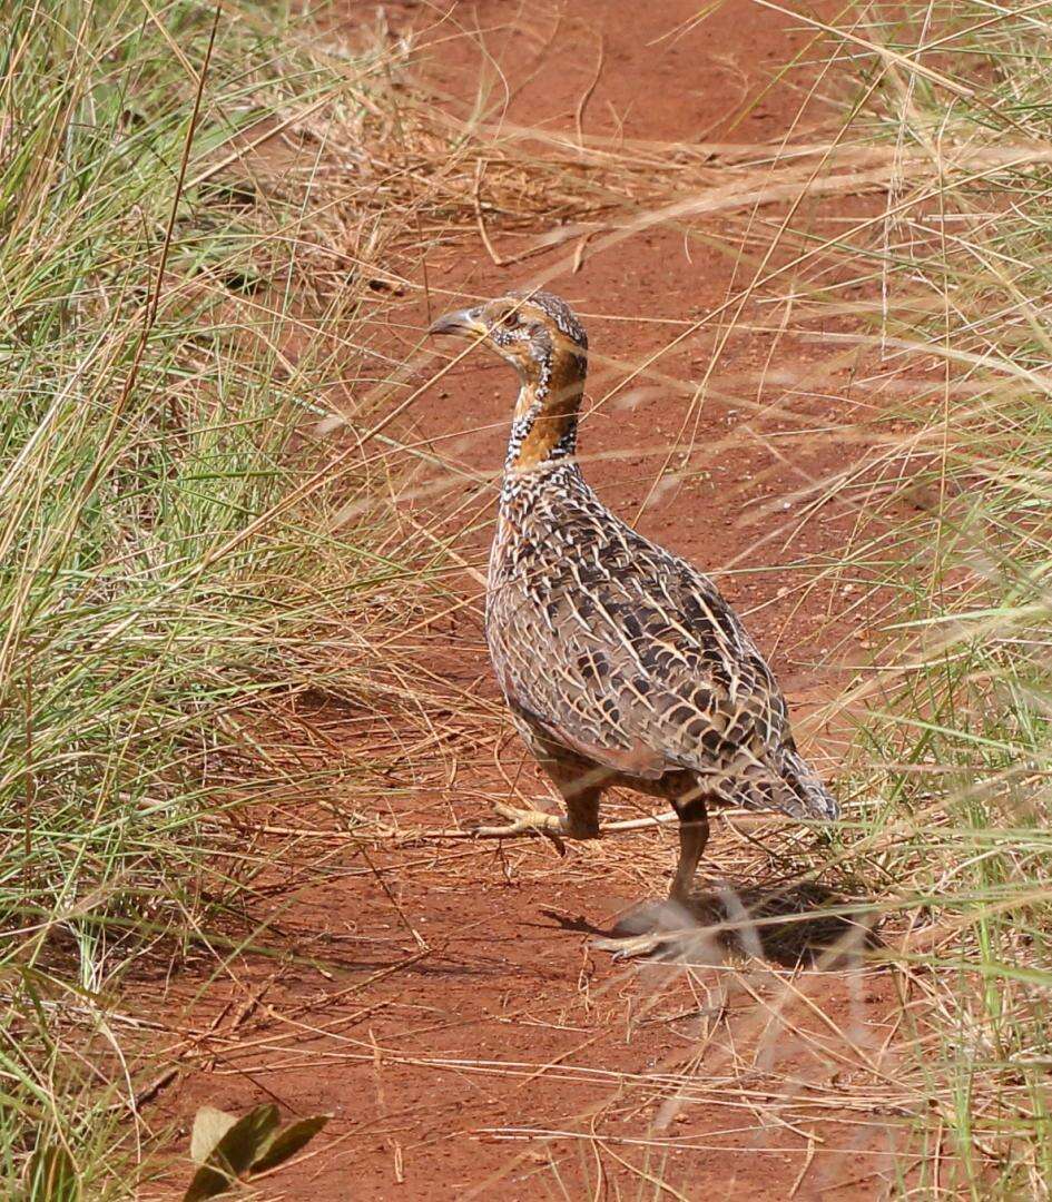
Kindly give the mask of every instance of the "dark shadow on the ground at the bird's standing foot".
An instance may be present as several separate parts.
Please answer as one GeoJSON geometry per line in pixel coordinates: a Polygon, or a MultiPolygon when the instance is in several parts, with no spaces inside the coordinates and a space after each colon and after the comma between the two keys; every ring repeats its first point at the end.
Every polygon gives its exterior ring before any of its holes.
{"type": "Polygon", "coordinates": [[[610,930],[555,910],[542,914],[564,930],[606,940],[667,932],[668,945],[678,942],[712,960],[745,956],[787,968],[843,969],[861,964],[867,952],[882,946],[870,902],[814,881],[711,885],[685,905],[634,906],[610,930]]]}

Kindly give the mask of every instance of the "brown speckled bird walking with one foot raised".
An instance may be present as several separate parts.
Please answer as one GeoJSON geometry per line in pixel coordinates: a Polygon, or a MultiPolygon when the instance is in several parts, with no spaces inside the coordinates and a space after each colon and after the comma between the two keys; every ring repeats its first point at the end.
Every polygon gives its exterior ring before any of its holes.
{"type": "Polygon", "coordinates": [[[833,821],[767,661],[713,581],[613,513],[586,482],[577,427],[588,338],[570,305],[512,291],[429,333],[474,340],[518,375],[486,585],[486,641],[518,733],[565,814],[501,808],[477,833],[600,837],[606,790],[678,815],[670,899],[689,900],[719,807],[833,821]]]}

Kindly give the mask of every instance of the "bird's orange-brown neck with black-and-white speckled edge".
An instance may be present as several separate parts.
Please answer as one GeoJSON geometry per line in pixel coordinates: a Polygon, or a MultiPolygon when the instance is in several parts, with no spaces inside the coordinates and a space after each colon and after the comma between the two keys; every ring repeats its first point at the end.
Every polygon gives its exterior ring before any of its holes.
{"type": "Polygon", "coordinates": [[[563,355],[542,362],[536,379],[523,382],[507,444],[506,471],[533,471],[572,458],[584,373],[583,356],[563,355]]]}

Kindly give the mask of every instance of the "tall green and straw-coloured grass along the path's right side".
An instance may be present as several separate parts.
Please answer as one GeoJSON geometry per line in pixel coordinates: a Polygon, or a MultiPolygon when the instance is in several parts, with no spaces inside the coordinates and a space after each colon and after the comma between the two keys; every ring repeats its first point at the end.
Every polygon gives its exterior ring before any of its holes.
{"type": "Polygon", "coordinates": [[[913,908],[903,960],[929,1002],[911,1196],[1052,1191],[1050,32],[1047,11],[965,0],[868,11],[854,34],[880,53],[843,47],[851,136],[939,168],[905,167],[879,227],[838,246],[880,284],[850,303],[869,382],[909,381],[870,477],[893,487],[860,493],[837,566],[879,587],[897,668],[869,682],[857,772],[861,838],[897,881],[882,900],[913,908]],[[991,149],[1020,161],[976,168],[991,149]]]}

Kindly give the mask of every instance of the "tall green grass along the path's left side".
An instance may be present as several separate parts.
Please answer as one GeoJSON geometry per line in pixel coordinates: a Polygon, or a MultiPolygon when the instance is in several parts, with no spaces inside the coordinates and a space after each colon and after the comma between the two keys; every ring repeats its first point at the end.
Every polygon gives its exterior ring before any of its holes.
{"type": "Polygon", "coordinates": [[[258,871],[231,808],[346,770],[261,755],[254,714],[305,689],[398,703],[368,661],[411,578],[385,506],[361,457],[289,442],[346,377],[361,268],[406,219],[373,215],[357,274],[308,304],[353,210],[309,173],[215,169],[262,121],[353,129],[382,56],[322,53],[268,10],[0,17],[5,1197],[54,1148],[84,1196],[132,1194],[147,1132],[117,986],[258,871]]]}

